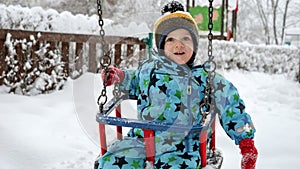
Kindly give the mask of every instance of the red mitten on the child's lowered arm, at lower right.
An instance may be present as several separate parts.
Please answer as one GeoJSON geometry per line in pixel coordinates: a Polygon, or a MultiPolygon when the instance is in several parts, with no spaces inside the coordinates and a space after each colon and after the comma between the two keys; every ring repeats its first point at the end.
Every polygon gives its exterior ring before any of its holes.
{"type": "Polygon", "coordinates": [[[252,139],[244,139],[239,142],[242,157],[242,169],[254,169],[257,159],[257,149],[252,139]]]}

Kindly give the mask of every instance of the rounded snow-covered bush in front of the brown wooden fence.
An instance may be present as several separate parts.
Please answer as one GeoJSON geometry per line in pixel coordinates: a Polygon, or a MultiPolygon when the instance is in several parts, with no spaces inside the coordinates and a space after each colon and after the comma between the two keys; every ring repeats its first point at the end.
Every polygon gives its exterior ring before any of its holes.
{"type": "Polygon", "coordinates": [[[20,40],[7,34],[7,68],[1,77],[7,92],[36,95],[63,87],[66,75],[60,52],[50,50],[50,45],[46,42],[37,41],[34,36],[20,40]],[[39,45],[39,50],[34,50],[35,45],[39,45]]]}

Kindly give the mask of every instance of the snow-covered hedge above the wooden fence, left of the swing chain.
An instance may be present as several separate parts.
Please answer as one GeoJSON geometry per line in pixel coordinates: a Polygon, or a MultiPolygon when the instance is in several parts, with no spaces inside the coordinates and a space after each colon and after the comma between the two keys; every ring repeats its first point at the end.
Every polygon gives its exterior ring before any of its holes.
{"type": "MultiPolygon", "coordinates": [[[[0,4],[0,29],[99,34],[98,16],[0,4]]],[[[107,21],[106,23],[108,23],[107,21]]]]}

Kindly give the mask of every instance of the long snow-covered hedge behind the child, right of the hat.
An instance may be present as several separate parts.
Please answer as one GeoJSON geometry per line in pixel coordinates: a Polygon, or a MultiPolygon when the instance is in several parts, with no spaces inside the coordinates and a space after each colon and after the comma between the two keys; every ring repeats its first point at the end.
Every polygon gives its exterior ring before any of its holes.
{"type": "MultiPolygon", "coordinates": [[[[207,59],[207,41],[200,41],[199,62],[207,59]]],[[[299,79],[300,49],[295,46],[253,45],[213,41],[213,55],[219,69],[242,69],[269,74],[286,74],[299,79]]]]}

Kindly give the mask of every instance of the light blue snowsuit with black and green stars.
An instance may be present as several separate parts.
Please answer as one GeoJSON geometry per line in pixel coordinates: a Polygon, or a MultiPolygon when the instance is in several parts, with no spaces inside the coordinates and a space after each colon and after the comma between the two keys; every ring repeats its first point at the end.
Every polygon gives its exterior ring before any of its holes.
{"type": "MultiPolygon", "coordinates": [[[[138,119],[177,125],[200,124],[207,73],[202,66],[190,69],[166,57],[145,61],[137,70],[124,70],[120,86],[138,98],[138,119]]],[[[236,88],[217,74],[214,79],[216,111],[225,132],[236,144],[253,138],[255,128],[245,112],[236,88]]],[[[98,162],[98,169],[142,169],[146,157],[141,129],[132,129],[121,141],[114,142],[98,162]]],[[[201,168],[199,133],[155,132],[154,167],[201,168]]]]}

